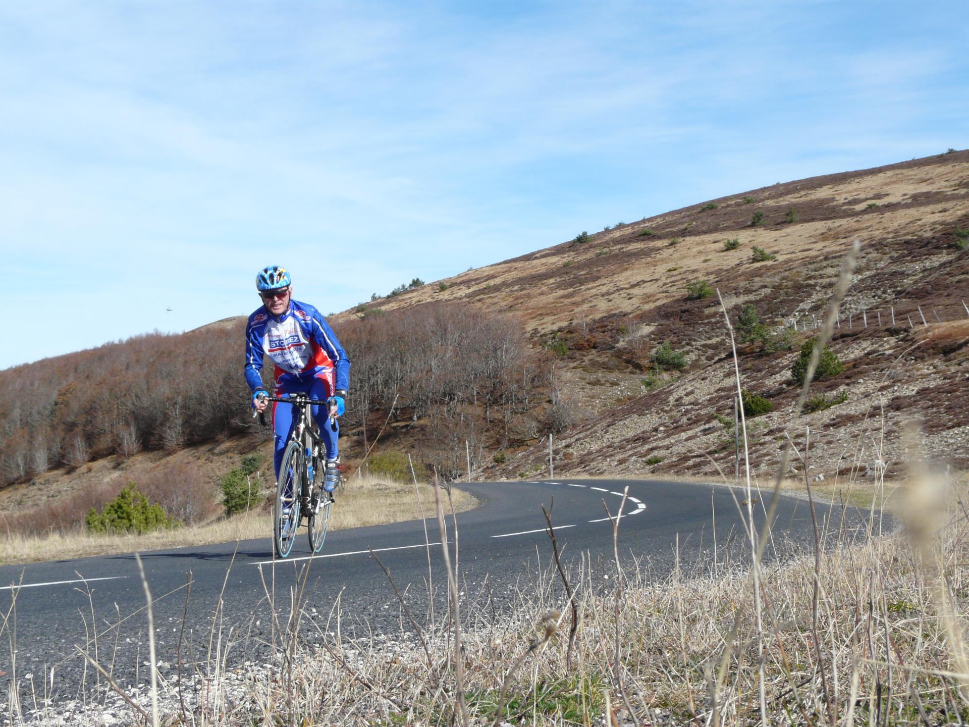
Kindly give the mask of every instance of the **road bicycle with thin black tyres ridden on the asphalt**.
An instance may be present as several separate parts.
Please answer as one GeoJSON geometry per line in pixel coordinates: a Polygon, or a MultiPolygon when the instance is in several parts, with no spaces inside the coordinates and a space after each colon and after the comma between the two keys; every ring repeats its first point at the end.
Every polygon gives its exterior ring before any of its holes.
{"type": "MultiPolygon", "coordinates": [[[[297,528],[305,519],[310,550],[319,553],[327,538],[329,513],[335,499],[331,492],[323,489],[327,448],[310,416],[310,407],[328,407],[329,404],[305,394],[266,396],[265,400],[289,404],[296,409],[293,430],[279,465],[279,480],[276,483],[276,500],[272,509],[273,550],[277,557],[287,557],[296,542],[297,528]]],[[[265,426],[266,418],[262,414],[259,418],[265,426]]],[[[329,426],[336,427],[332,419],[329,426]]],[[[342,484],[343,476],[340,475],[338,487],[342,484]]]]}

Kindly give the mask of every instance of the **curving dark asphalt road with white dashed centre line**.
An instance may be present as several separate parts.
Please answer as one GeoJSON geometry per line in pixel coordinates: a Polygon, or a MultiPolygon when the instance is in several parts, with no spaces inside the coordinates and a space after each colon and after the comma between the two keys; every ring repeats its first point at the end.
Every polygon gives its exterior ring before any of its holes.
{"type": "MultiPolygon", "coordinates": [[[[747,547],[742,524],[728,488],[605,480],[461,485],[482,503],[457,516],[459,570],[467,597],[487,588],[500,610],[508,606],[512,588],[534,583],[538,571],[548,567],[551,551],[541,506],[551,505],[552,498],[556,538],[565,559],[574,562],[585,554],[593,568],[607,570],[612,557],[611,525],[603,502],[615,513],[627,485],[629,499],[619,530],[624,557],[638,558],[641,567],[662,577],[674,567],[678,538],[681,563],[703,567],[712,556],[715,521],[720,557],[726,549],[734,562],[744,560],[747,547]]],[[[743,493],[735,491],[736,499],[742,500],[743,493]]],[[[758,522],[763,522],[761,503],[755,510],[758,522]]],[[[863,514],[857,511],[843,517],[856,531],[863,525],[863,514]]],[[[819,518],[835,528],[842,512],[840,507],[826,505],[819,507],[819,518]]],[[[323,552],[312,560],[301,534],[289,559],[275,563],[268,537],[142,553],[147,582],[156,599],[158,658],[174,662],[180,637],[183,659],[204,653],[220,593],[222,610],[217,624],[224,639],[231,627],[232,638],[238,640],[231,658],[259,658],[266,650],[265,641],[271,638],[267,593],[274,595],[277,613],[285,615],[300,576],[306,576],[306,608],[317,610],[313,617],[325,621],[338,604],[348,619],[344,628],[399,633],[396,597],[368,549],[391,569],[412,610],[424,614],[428,579],[424,523],[430,543],[439,543],[438,523],[428,520],[330,532],[323,552]],[[304,569],[307,565],[308,571],[304,569]],[[186,604],[189,579],[192,587],[186,604]]],[[[449,528],[448,538],[453,542],[450,518],[449,528]]],[[[778,551],[787,553],[792,545],[808,546],[813,542],[812,532],[807,502],[781,498],[773,535],[778,551]]],[[[430,549],[430,559],[437,589],[446,583],[440,545],[430,549]]],[[[0,644],[0,671],[6,673],[0,677],[4,694],[16,658],[18,678],[30,673],[40,685],[53,666],[48,693],[55,699],[77,698],[80,690],[90,688],[94,676],[90,668],[85,673],[76,646],[93,656],[91,636],[95,631],[99,634],[98,659],[113,664],[115,678],[122,685],[146,678],[145,594],[133,554],[4,566],[0,567],[0,583],[4,584],[0,607],[4,614],[16,614],[16,628],[8,627],[0,644]],[[16,611],[11,611],[15,597],[16,611]]],[[[439,591],[442,606],[443,596],[439,591]]],[[[14,623],[9,621],[8,626],[14,623]]],[[[27,686],[21,683],[20,688],[27,686]]]]}

